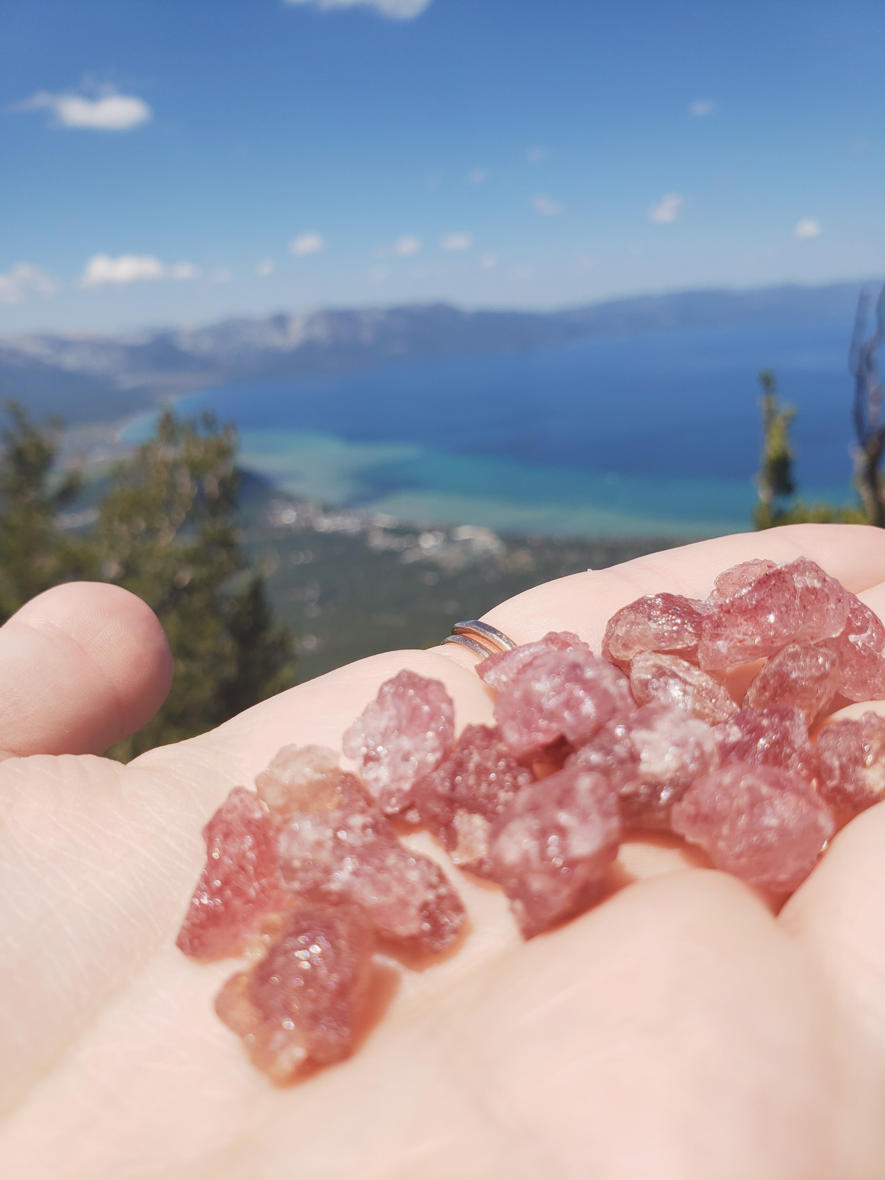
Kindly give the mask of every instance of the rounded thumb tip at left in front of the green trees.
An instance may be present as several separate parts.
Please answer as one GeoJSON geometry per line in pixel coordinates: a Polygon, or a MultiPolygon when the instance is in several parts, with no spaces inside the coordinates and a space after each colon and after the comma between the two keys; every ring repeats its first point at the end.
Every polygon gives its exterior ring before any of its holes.
{"type": "Polygon", "coordinates": [[[0,749],[100,754],[169,693],[172,655],[153,611],[119,586],[73,582],[0,628],[0,749]]]}

